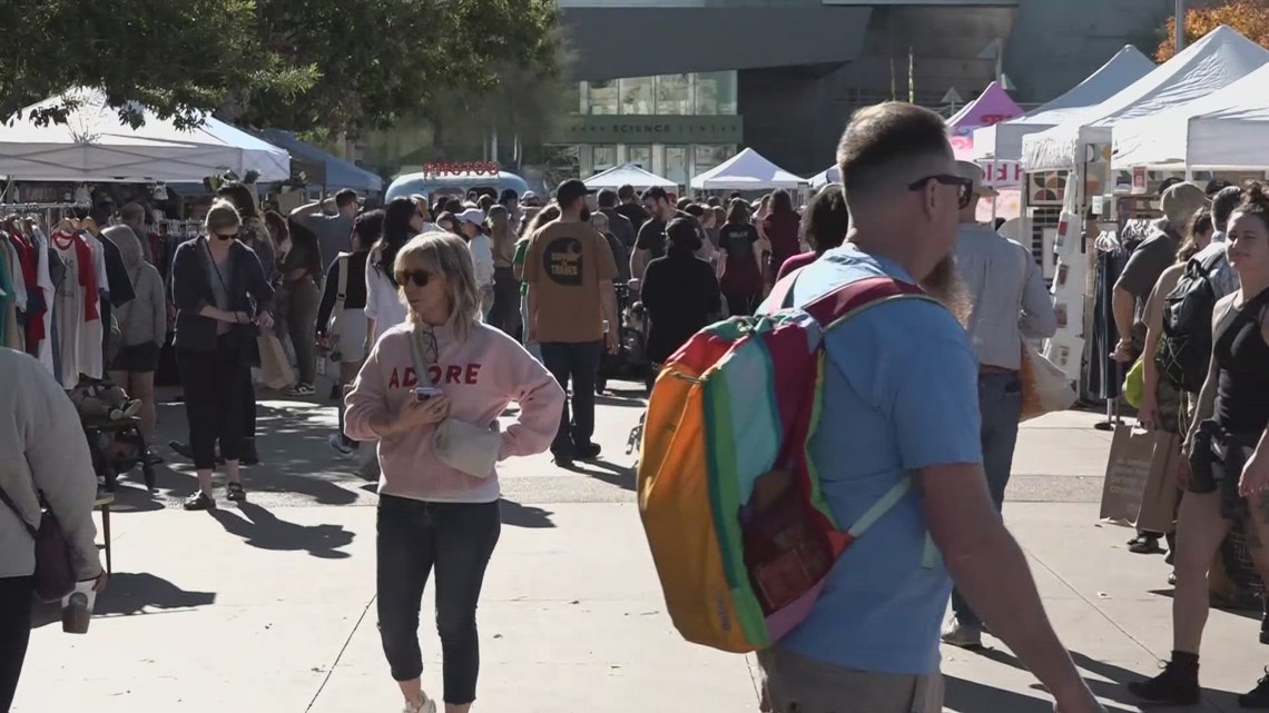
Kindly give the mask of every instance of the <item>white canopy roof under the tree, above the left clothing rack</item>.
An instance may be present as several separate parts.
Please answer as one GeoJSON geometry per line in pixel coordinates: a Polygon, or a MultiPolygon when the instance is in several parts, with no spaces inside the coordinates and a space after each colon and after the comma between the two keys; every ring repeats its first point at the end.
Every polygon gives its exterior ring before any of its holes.
{"type": "Polygon", "coordinates": [[[145,124],[119,119],[95,89],[67,93],[77,107],[66,123],[36,126],[30,112],[57,105],[53,98],[0,124],[0,175],[47,181],[201,181],[232,170],[259,171],[260,183],[291,178],[291,155],[225,122],[207,117],[180,131],[171,119],[143,109],[145,124]]]}

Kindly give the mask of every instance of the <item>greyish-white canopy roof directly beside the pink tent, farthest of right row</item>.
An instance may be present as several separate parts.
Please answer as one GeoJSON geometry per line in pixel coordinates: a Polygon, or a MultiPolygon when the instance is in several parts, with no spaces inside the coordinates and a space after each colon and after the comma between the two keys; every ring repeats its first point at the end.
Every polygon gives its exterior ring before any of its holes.
{"type": "Polygon", "coordinates": [[[1132,44],[1110,57],[1107,63],[1048,104],[995,126],[973,132],[973,157],[1016,161],[1023,155],[1023,137],[1051,129],[1081,109],[1096,107],[1132,82],[1150,74],[1155,63],[1132,44]]]}

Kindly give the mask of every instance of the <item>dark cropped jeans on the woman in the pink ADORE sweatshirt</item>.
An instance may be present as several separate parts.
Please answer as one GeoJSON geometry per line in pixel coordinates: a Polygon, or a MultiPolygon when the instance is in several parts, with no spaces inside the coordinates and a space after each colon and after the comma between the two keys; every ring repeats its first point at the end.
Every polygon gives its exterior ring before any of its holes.
{"type": "Polygon", "coordinates": [[[437,571],[437,633],[444,700],[476,700],[480,636],[476,603],[503,521],[494,502],[425,502],[383,495],[378,510],[378,614],[392,679],[423,675],[419,608],[428,575],[437,571]]]}

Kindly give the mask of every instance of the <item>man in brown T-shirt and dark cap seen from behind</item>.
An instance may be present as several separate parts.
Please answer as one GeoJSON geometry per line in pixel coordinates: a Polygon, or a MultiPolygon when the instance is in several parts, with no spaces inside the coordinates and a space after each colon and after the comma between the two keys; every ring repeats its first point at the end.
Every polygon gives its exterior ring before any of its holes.
{"type": "Polygon", "coordinates": [[[604,346],[617,350],[617,264],[604,236],[590,226],[586,184],[570,179],[556,189],[560,218],[529,239],[524,259],[529,341],[560,386],[572,379],[572,419],[565,403],[551,453],[556,463],[599,455],[595,434],[595,376],[604,346]]]}

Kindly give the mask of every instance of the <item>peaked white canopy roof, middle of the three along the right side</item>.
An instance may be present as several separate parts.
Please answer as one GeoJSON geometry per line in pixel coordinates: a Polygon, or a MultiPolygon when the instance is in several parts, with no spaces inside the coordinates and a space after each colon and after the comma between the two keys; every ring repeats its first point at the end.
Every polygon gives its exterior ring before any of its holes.
{"type": "Polygon", "coordinates": [[[1072,170],[1082,146],[1108,145],[1115,124],[1148,117],[1217,91],[1269,62],[1269,49],[1221,25],[1132,86],[1077,112],[1061,126],[1023,138],[1028,173],[1072,170]]]}

